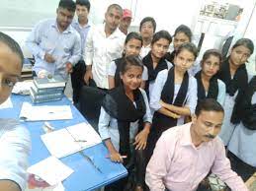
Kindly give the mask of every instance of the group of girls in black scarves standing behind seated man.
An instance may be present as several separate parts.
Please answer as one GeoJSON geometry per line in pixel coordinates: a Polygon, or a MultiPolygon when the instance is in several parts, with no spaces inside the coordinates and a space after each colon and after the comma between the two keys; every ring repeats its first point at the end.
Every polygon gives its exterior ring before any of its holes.
{"type": "MultiPolygon", "coordinates": [[[[181,26],[176,31],[174,39],[177,35],[187,38],[187,41],[191,40],[191,36],[187,36],[187,27],[181,26]]],[[[142,47],[142,38],[139,36],[137,32],[128,33],[123,57],[113,61],[109,71],[109,86],[113,90],[104,99],[99,132],[102,139],[105,140],[111,159],[126,164],[131,158],[130,156],[135,155],[134,159],[138,160],[133,160],[133,162],[137,162],[135,165],[138,166],[138,174],[143,174],[139,170],[143,170],[141,166],[145,166],[152,156],[155,144],[161,134],[171,127],[190,121],[190,116],[195,113],[197,103],[206,98],[213,98],[224,108],[225,115],[219,135],[224,145],[228,146],[228,149],[234,147],[236,156],[242,160],[245,159],[245,162],[248,158],[253,160],[252,156],[255,152],[249,149],[249,145],[253,142],[253,139],[250,138],[252,135],[246,137],[245,132],[237,135],[236,131],[233,134],[237,123],[244,120],[241,117],[244,109],[248,111],[247,114],[251,120],[252,127],[249,129],[253,129],[255,126],[255,110],[253,111],[255,105],[253,106],[253,102],[250,102],[253,101],[255,84],[253,85],[252,80],[248,86],[250,80],[245,68],[247,59],[253,53],[253,42],[247,38],[237,40],[231,47],[230,55],[224,59],[218,50],[207,50],[200,62],[200,71],[193,77],[191,74],[195,70],[191,69],[198,54],[197,47],[193,43],[184,42],[176,45],[175,50],[168,54],[168,47],[172,41],[171,35],[165,31],[155,32],[150,45],[151,50],[142,60],[139,60],[142,47]],[[171,58],[170,55],[174,57],[171,58]],[[247,95],[245,91],[250,92],[246,99],[250,108],[246,108],[248,105],[245,103],[240,106],[241,99],[247,95]],[[140,96],[137,96],[138,93],[140,96]],[[236,98],[237,95],[240,98],[236,98]],[[141,99],[144,101],[143,106],[137,102],[141,99]],[[148,100],[149,102],[147,102],[148,100]],[[125,105],[127,102],[135,110],[129,110],[125,105]],[[106,108],[106,104],[109,107],[106,108]],[[234,108],[239,112],[236,116],[234,116],[234,108]],[[138,111],[143,112],[135,117],[138,111]],[[123,115],[124,118],[120,118],[120,115],[123,115]],[[231,118],[235,118],[235,121],[231,118]],[[130,122],[129,130],[128,126],[122,126],[124,120],[130,122]],[[116,124],[113,121],[116,121],[116,124]],[[141,126],[141,122],[144,122],[144,125],[141,126]],[[127,131],[126,134],[124,131],[127,131]],[[240,135],[243,136],[242,140],[237,139],[240,135]],[[229,143],[231,136],[234,143],[232,141],[229,143]],[[236,137],[234,138],[234,136],[236,137]],[[124,139],[127,140],[124,141],[124,139]],[[141,154],[141,151],[140,154],[132,152],[131,146],[135,151],[145,150],[145,154],[141,154]],[[243,149],[240,150],[240,147],[243,149]],[[124,155],[129,158],[123,159],[124,155]],[[144,161],[141,161],[141,155],[144,155],[144,161]]],[[[248,118],[244,113],[243,116],[248,118]]],[[[241,124],[239,123],[239,125],[241,124]]],[[[243,130],[248,131],[248,128],[243,130]]],[[[247,172],[246,178],[255,170],[255,163],[249,164],[252,166],[250,172],[247,172]]],[[[241,173],[243,177],[244,172],[241,173]]],[[[244,177],[244,180],[246,178],[244,177]]],[[[143,187],[141,178],[137,179],[139,180],[137,184],[143,187]]],[[[116,183],[115,186],[117,185],[116,183]]],[[[122,190],[121,188],[124,189],[124,187],[119,187],[117,190],[122,190]]]]}

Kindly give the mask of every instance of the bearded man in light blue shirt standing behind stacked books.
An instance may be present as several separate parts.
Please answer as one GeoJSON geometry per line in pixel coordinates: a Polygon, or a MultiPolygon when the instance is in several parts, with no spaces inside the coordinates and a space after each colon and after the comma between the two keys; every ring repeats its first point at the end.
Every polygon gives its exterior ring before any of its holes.
{"type": "Polygon", "coordinates": [[[60,0],[56,19],[40,22],[26,40],[36,63],[37,76],[61,75],[67,79],[72,67],[79,61],[81,39],[71,26],[75,13],[72,0],[60,0]]]}

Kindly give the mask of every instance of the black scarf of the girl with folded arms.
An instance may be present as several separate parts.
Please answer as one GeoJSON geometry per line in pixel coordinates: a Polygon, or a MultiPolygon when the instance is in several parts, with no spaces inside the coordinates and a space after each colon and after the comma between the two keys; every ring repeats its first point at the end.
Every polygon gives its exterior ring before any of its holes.
{"type": "MultiPolygon", "coordinates": [[[[174,68],[175,67],[172,67],[168,72],[167,81],[163,87],[161,99],[164,102],[167,102],[169,104],[173,104],[176,106],[182,106],[185,102],[185,98],[188,93],[189,75],[187,72],[185,73],[179,93],[173,102],[174,87],[175,87],[174,68]]],[[[163,115],[162,113],[155,111],[154,116],[153,116],[152,129],[159,129],[159,130],[162,129],[161,132],[163,132],[166,129],[168,129],[170,127],[174,127],[176,125],[177,125],[177,119],[168,117],[166,115],[163,115]]]]}

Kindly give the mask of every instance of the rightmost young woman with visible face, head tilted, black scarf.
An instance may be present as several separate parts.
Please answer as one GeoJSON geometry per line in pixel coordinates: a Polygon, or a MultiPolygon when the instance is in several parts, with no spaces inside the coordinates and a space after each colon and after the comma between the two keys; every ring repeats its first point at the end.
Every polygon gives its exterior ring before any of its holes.
{"type": "Polygon", "coordinates": [[[253,53],[254,45],[252,40],[241,38],[235,42],[231,48],[230,55],[223,61],[217,74],[217,78],[223,81],[226,87],[225,103],[223,105],[225,116],[219,137],[225,146],[228,145],[234,130],[234,124],[231,123],[231,115],[237,95],[242,97],[244,89],[248,85],[248,73],[245,62],[253,53]]]}

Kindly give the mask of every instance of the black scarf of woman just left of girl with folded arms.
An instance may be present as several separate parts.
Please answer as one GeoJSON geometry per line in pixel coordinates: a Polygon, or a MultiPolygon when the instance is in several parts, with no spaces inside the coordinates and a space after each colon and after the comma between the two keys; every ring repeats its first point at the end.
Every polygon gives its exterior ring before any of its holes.
{"type": "Polygon", "coordinates": [[[153,60],[151,57],[151,51],[142,59],[142,62],[146,66],[147,72],[148,72],[148,80],[145,83],[145,92],[148,96],[149,83],[156,79],[157,74],[160,71],[162,71],[164,69],[168,69],[168,65],[167,65],[167,62],[165,61],[165,58],[161,58],[157,64],[157,66],[154,69],[153,60]]]}

